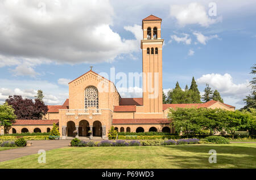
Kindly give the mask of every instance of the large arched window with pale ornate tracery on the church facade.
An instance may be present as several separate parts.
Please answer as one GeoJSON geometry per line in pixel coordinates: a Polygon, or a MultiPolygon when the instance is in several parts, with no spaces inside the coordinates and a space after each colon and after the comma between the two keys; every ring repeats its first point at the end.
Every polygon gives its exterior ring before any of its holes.
{"type": "Polygon", "coordinates": [[[89,86],[84,91],[84,107],[98,109],[98,89],[94,86],[89,86]]]}

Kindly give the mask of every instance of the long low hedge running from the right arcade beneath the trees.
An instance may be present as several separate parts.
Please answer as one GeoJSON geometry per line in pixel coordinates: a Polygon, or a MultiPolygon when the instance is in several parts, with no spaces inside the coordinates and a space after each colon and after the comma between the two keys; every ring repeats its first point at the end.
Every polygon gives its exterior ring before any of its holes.
{"type": "MultiPolygon", "coordinates": [[[[185,138],[197,138],[197,139],[204,139],[204,138],[207,138],[208,136],[210,135],[189,135],[189,136],[186,136],[186,135],[183,135],[183,136],[179,136],[179,135],[156,135],[156,136],[122,136],[122,135],[118,135],[118,139],[131,139],[131,140],[134,140],[134,139],[138,139],[138,140],[141,140],[141,139],[144,139],[144,140],[148,140],[148,139],[185,139],[185,138]]],[[[231,135],[216,135],[216,136],[222,136],[224,138],[227,138],[227,139],[232,139],[232,136],[231,135]]],[[[234,139],[256,139],[256,135],[250,135],[250,136],[240,136],[240,135],[235,135],[234,136],[234,139]]]]}

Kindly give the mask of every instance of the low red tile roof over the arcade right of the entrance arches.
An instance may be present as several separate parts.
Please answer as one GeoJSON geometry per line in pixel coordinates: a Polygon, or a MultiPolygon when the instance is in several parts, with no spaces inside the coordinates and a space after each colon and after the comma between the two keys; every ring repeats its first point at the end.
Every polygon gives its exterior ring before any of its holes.
{"type": "Polygon", "coordinates": [[[129,124],[169,124],[168,119],[113,119],[113,125],[129,125],[129,124]]]}

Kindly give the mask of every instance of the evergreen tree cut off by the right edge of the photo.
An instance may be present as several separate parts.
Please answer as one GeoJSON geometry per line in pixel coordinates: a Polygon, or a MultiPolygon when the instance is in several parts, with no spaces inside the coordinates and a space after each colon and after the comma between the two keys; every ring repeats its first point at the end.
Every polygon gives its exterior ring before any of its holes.
{"type": "MultiPolygon", "coordinates": [[[[256,74],[256,64],[254,64],[254,66],[251,67],[250,74],[256,74]]],[[[250,108],[256,108],[256,77],[254,77],[253,80],[251,80],[250,84],[251,94],[243,99],[246,105],[242,109],[249,110],[250,108]]]]}

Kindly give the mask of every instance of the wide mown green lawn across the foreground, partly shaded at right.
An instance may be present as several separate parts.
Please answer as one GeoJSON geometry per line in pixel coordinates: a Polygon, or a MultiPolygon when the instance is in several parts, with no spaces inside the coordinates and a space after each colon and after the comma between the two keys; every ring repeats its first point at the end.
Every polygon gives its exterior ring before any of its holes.
{"type": "Polygon", "coordinates": [[[67,147],[0,162],[0,168],[256,168],[256,144],[194,144],[141,147],[67,147]],[[209,150],[217,163],[208,162],[209,150]]]}

